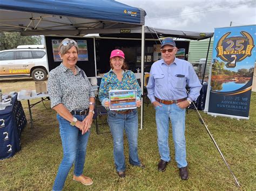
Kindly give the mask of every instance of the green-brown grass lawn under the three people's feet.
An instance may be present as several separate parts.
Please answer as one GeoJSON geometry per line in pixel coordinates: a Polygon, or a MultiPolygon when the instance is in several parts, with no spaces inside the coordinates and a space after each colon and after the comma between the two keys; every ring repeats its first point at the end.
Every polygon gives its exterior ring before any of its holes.
{"type": "MultiPolygon", "coordinates": [[[[35,89],[30,79],[0,80],[3,93],[21,89],[35,89]]],[[[33,102],[36,102],[33,101],[33,102]]],[[[33,103],[32,102],[32,103],[33,103]]],[[[49,101],[45,103],[50,108],[49,101]]],[[[14,157],[0,161],[0,190],[46,189],[50,190],[62,160],[56,112],[42,103],[32,108],[33,125],[30,127],[28,104],[22,101],[28,124],[21,135],[22,150],[14,157]]],[[[96,134],[95,125],[87,145],[84,174],[93,179],[93,185],[84,186],[72,180],[72,169],[64,190],[254,190],[256,93],[252,93],[250,120],[225,117],[214,118],[200,111],[220,150],[237,176],[241,188],[228,171],[196,111],[186,115],[187,161],[190,178],[183,181],[174,159],[172,132],[170,130],[171,162],[165,172],[157,171],[159,161],[154,108],[146,107],[144,129],[139,130],[139,157],[145,169],[129,164],[128,145],[125,139],[126,178],[119,179],[113,164],[113,144],[110,133],[96,134]]],[[[108,132],[107,125],[100,128],[108,132]]]]}

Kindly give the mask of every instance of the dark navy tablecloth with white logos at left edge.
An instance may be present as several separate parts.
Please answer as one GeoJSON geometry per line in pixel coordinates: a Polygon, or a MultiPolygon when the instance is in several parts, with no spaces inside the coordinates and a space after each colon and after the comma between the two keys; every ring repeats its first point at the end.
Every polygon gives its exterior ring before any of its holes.
{"type": "Polygon", "coordinates": [[[26,125],[26,117],[17,94],[12,105],[0,110],[0,159],[12,157],[21,150],[21,132],[26,125]]]}

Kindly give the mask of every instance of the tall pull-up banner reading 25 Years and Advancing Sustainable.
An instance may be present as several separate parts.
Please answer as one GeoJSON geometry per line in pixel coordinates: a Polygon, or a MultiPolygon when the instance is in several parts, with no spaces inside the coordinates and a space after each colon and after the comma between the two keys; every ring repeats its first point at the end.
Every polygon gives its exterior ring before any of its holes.
{"type": "Polygon", "coordinates": [[[215,29],[208,114],[249,119],[256,25],[215,29]]]}

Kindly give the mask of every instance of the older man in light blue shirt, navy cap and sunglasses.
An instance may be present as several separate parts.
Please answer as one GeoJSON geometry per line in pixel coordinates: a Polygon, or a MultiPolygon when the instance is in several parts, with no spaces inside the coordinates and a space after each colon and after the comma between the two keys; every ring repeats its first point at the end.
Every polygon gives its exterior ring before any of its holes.
{"type": "Polygon", "coordinates": [[[147,84],[147,96],[156,109],[160,162],[158,170],[165,171],[170,159],[169,118],[175,147],[175,159],[180,177],[188,179],[185,140],[185,108],[200,95],[201,83],[190,62],[175,57],[176,43],[165,38],[161,43],[163,59],[153,63],[147,84]],[[190,87],[187,95],[186,85],[190,87]]]}

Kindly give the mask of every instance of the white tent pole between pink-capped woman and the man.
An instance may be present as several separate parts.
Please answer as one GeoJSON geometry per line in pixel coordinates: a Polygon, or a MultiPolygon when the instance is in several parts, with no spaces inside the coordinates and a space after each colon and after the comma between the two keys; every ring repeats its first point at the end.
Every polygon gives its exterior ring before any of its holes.
{"type": "MultiPolygon", "coordinates": [[[[145,28],[144,25],[142,25],[142,63],[141,63],[141,74],[140,74],[140,87],[142,89],[142,95],[144,95],[144,48],[145,47],[145,28]]],[[[142,107],[140,108],[140,129],[143,129],[143,96],[142,96],[142,107]]]]}

